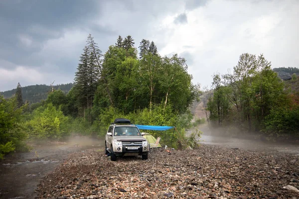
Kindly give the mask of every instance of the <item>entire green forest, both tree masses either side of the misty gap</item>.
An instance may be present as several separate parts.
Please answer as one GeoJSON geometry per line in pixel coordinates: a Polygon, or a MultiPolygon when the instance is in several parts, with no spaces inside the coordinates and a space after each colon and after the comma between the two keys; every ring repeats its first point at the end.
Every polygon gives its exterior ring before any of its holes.
{"type": "Polygon", "coordinates": [[[185,129],[204,122],[194,118],[192,123],[190,111],[203,95],[209,125],[224,129],[223,134],[298,139],[299,94],[292,89],[298,85],[297,68],[282,68],[294,72],[287,83],[263,55],[244,53],[232,73],[214,74],[212,88],[205,91],[192,84],[187,69],[183,57],[161,56],[153,41],[143,39],[136,47],[132,36],[119,36],[103,53],[89,35],[73,84],[43,89],[45,99],[33,103],[24,100],[29,92],[20,84],[9,94],[13,97],[0,95],[0,158],[28,150],[28,140],[63,140],[71,134],[103,137],[118,117],[175,126],[165,134],[150,133],[174,148],[196,147],[201,132],[187,137],[185,129]]]}

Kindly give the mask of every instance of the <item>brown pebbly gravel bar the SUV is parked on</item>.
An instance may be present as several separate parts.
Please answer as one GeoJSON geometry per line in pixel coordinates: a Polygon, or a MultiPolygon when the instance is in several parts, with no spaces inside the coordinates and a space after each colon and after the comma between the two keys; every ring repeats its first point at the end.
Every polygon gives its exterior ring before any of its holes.
{"type": "Polygon", "coordinates": [[[103,150],[70,155],[40,181],[37,198],[299,198],[298,154],[202,144],[196,150],[155,150],[145,161],[127,157],[112,162],[103,150]],[[289,186],[295,190],[283,188],[289,186]]]}

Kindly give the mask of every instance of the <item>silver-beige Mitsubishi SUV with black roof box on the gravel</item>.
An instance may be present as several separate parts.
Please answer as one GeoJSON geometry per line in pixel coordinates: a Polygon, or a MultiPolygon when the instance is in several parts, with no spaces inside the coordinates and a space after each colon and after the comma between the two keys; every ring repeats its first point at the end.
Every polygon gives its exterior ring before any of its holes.
{"type": "Polygon", "coordinates": [[[149,143],[143,137],[139,128],[124,118],[115,119],[108,128],[105,138],[105,154],[116,161],[117,156],[141,155],[148,159],[149,143]]]}

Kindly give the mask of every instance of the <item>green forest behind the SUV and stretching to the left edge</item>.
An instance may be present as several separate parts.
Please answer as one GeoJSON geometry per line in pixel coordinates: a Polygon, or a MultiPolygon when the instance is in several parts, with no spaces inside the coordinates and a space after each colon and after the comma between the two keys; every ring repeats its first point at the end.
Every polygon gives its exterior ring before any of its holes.
{"type": "Polygon", "coordinates": [[[200,88],[187,69],[177,54],[160,56],[153,41],[143,39],[137,48],[132,36],[119,36],[103,53],[89,35],[67,94],[49,89],[45,100],[24,103],[18,84],[13,97],[0,97],[0,157],[26,150],[28,140],[62,140],[73,133],[103,137],[117,117],[176,126],[163,136],[151,133],[175,148],[192,145],[199,133],[187,138],[184,129],[192,125],[189,107],[200,88]]]}

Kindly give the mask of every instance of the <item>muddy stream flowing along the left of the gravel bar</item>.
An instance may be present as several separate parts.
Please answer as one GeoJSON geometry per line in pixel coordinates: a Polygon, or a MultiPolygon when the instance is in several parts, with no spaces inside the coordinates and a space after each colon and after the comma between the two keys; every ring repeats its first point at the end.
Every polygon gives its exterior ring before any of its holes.
{"type": "Polygon", "coordinates": [[[69,154],[100,146],[104,146],[103,140],[74,137],[66,143],[39,145],[31,152],[5,157],[0,161],[0,199],[34,199],[39,181],[69,154]]]}

